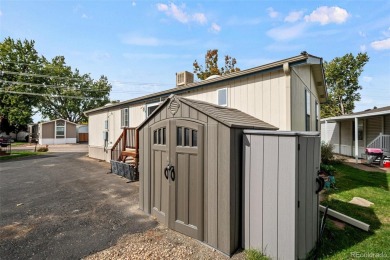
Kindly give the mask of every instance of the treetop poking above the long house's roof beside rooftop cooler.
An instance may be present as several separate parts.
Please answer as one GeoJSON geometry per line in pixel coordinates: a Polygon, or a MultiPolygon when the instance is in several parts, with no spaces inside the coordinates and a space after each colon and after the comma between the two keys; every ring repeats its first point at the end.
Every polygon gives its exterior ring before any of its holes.
{"type": "Polygon", "coordinates": [[[205,55],[205,68],[202,65],[199,65],[198,61],[195,60],[193,63],[194,73],[198,79],[204,80],[210,77],[211,75],[225,75],[235,71],[240,71],[239,68],[235,67],[237,60],[225,55],[225,66],[218,68],[218,50],[208,50],[205,55]]]}

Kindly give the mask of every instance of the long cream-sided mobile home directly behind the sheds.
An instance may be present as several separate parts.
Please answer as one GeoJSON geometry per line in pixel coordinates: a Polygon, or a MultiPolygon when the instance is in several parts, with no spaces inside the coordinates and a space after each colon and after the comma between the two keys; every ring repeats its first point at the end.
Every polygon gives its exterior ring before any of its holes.
{"type": "Polygon", "coordinates": [[[322,58],[303,52],[200,82],[193,77],[177,73],[175,88],[86,111],[89,156],[109,161],[123,129],[138,127],[171,94],[235,108],[280,130],[319,131],[327,96],[322,58]]]}

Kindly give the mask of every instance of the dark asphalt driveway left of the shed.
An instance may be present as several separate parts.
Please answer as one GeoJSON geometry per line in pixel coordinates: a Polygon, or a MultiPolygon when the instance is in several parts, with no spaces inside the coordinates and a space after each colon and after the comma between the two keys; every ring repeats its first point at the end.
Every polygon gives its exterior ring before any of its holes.
{"type": "Polygon", "coordinates": [[[85,155],[0,162],[0,259],[80,259],[157,225],[138,210],[138,182],[85,155]]]}

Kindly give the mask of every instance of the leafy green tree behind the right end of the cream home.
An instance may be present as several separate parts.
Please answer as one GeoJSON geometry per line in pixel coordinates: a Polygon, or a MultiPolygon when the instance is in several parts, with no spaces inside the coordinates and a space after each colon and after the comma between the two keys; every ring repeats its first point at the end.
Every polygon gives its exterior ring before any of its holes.
{"type": "Polygon", "coordinates": [[[368,61],[367,53],[356,57],[348,53],[324,63],[328,101],[321,106],[322,118],[352,113],[355,102],[360,100],[359,76],[368,61]]]}

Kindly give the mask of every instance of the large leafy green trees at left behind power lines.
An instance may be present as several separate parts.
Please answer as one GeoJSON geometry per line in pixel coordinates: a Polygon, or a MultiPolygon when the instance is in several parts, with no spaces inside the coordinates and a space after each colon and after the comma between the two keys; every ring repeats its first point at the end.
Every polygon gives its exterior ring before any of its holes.
{"type": "Polygon", "coordinates": [[[26,125],[40,112],[50,120],[86,122],[83,112],[108,103],[111,85],[66,65],[63,56],[39,56],[34,41],[6,38],[0,43],[0,116],[26,125]]]}

